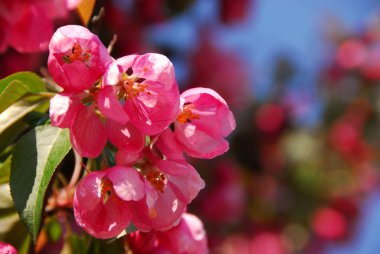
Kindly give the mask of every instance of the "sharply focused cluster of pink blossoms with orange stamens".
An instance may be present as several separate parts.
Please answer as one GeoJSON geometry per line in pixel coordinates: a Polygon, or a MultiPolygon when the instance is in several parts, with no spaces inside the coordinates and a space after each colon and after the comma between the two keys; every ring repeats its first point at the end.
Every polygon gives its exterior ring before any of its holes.
{"type": "Polygon", "coordinates": [[[229,148],[235,128],[227,103],[208,88],[179,93],[174,67],[148,53],[113,59],[81,26],[59,28],[48,69],[63,91],[51,99],[51,124],[70,129],[75,150],[98,157],[117,151],[116,165],[87,174],[74,195],[74,215],[97,238],[168,230],[204,187],[184,153],[213,158],[229,148]],[[108,143],[107,143],[108,141],[108,143]]]}

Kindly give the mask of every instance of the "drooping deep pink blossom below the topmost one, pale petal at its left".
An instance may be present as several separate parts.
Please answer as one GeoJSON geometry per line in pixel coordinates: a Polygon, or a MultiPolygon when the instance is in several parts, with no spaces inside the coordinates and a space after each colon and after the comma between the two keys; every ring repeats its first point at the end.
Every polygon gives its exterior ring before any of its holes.
{"type": "Polygon", "coordinates": [[[60,93],[50,100],[51,125],[70,129],[70,140],[81,156],[97,157],[107,139],[119,149],[141,151],[145,136],[132,124],[105,119],[95,110],[96,94],[60,93]]]}

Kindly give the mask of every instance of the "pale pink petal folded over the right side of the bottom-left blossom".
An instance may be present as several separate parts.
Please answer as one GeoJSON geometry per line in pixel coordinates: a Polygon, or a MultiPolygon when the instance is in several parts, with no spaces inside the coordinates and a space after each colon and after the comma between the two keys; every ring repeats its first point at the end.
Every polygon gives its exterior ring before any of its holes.
{"type": "Polygon", "coordinates": [[[144,181],[132,167],[115,166],[109,169],[107,177],[113,183],[119,198],[125,201],[138,201],[145,195],[144,181]]]}

